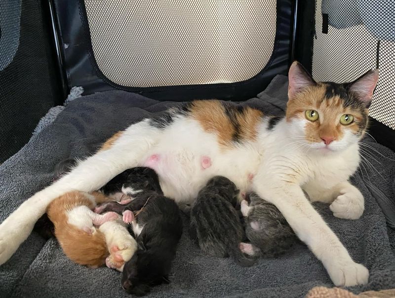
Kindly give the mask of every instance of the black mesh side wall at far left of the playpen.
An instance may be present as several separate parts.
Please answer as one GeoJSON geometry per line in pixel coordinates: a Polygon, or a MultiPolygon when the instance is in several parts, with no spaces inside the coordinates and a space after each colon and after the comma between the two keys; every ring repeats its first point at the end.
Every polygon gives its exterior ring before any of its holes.
{"type": "Polygon", "coordinates": [[[56,89],[41,13],[37,0],[0,4],[0,163],[30,139],[54,105],[56,89]]]}

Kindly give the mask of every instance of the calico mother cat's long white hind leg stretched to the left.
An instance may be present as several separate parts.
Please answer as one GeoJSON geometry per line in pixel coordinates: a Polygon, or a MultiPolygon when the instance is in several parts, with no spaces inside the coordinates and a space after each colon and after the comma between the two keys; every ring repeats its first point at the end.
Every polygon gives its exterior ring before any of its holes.
{"type": "Polygon", "coordinates": [[[149,120],[131,125],[70,173],[27,199],[0,224],[0,264],[26,240],[35,222],[56,197],[70,190],[99,189],[123,170],[138,166],[157,141],[158,133],[159,129],[151,126],[149,120]]]}

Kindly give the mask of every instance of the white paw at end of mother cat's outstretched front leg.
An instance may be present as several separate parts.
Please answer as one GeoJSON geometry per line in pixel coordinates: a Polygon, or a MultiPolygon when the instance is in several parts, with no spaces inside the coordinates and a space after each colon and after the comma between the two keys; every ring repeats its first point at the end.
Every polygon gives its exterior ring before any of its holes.
{"type": "Polygon", "coordinates": [[[364,285],[369,280],[369,270],[353,260],[347,262],[334,261],[333,265],[329,266],[327,270],[336,287],[364,285]]]}

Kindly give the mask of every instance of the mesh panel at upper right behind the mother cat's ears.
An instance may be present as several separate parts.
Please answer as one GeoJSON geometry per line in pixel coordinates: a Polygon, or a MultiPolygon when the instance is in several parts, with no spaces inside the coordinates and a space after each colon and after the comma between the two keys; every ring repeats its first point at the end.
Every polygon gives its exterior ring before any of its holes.
{"type": "Polygon", "coordinates": [[[370,115],[395,129],[395,3],[393,0],[317,0],[313,77],[353,81],[376,68],[380,79],[370,115]],[[390,3],[391,2],[391,3],[390,3]],[[328,33],[322,22],[328,14],[328,33]],[[379,43],[379,51],[377,46],[379,43]]]}

